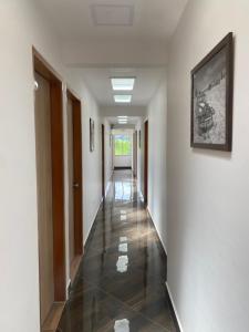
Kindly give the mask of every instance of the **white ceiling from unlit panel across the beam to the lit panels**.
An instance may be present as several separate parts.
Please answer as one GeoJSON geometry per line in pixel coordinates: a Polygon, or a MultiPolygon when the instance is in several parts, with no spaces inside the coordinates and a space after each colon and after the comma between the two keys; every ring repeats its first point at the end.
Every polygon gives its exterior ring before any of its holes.
{"type": "Polygon", "coordinates": [[[145,106],[167,63],[167,42],[187,0],[39,0],[101,106],[114,106],[111,76],[136,76],[132,106],[145,106]]]}

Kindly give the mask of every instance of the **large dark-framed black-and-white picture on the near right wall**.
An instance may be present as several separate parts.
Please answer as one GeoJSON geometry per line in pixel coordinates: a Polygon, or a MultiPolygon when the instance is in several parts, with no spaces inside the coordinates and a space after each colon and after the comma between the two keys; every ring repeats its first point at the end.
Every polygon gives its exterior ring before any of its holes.
{"type": "Polygon", "coordinates": [[[231,151],[232,33],[191,71],[191,147],[231,151]]]}

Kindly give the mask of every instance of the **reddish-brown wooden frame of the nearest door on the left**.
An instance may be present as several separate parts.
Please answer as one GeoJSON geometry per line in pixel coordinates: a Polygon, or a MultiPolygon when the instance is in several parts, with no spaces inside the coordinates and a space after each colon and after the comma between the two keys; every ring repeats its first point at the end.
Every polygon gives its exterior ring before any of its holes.
{"type": "Polygon", "coordinates": [[[32,48],[32,56],[33,72],[40,74],[50,83],[54,302],[64,302],[66,299],[66,276],[62,80],[34,48],[32,48]]]}

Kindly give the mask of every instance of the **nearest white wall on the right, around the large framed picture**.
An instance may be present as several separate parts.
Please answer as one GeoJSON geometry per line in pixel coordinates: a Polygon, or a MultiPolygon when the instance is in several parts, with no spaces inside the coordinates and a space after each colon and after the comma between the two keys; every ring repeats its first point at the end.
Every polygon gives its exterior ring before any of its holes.
{"type": "Polygon", "coordinates": [[[169,54],[168,286],[185,332],[249,329],[249,1],[189,0],[169,54]],[[232,153],[190,148],[190,70],[235,32],[232,153]]]}

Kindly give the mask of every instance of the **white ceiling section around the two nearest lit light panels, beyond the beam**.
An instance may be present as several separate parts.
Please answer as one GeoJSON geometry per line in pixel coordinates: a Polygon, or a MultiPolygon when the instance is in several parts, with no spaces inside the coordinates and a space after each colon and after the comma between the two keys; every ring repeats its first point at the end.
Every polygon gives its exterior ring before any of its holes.
{"type": "MultiPolygon", "coordinates": [[[[122,94],[122,92],[112,90],[111,76],[136,77],[134,90],[131,92],[133,106],[146,106],[166,76],[166,72],[162,68],[81,69],[81,72],[86,85],[101,106],[115,105],[113,95],[122,94]]],[[[129,94],[129,92],[123,92],[123,94],[129,94]]]]}

